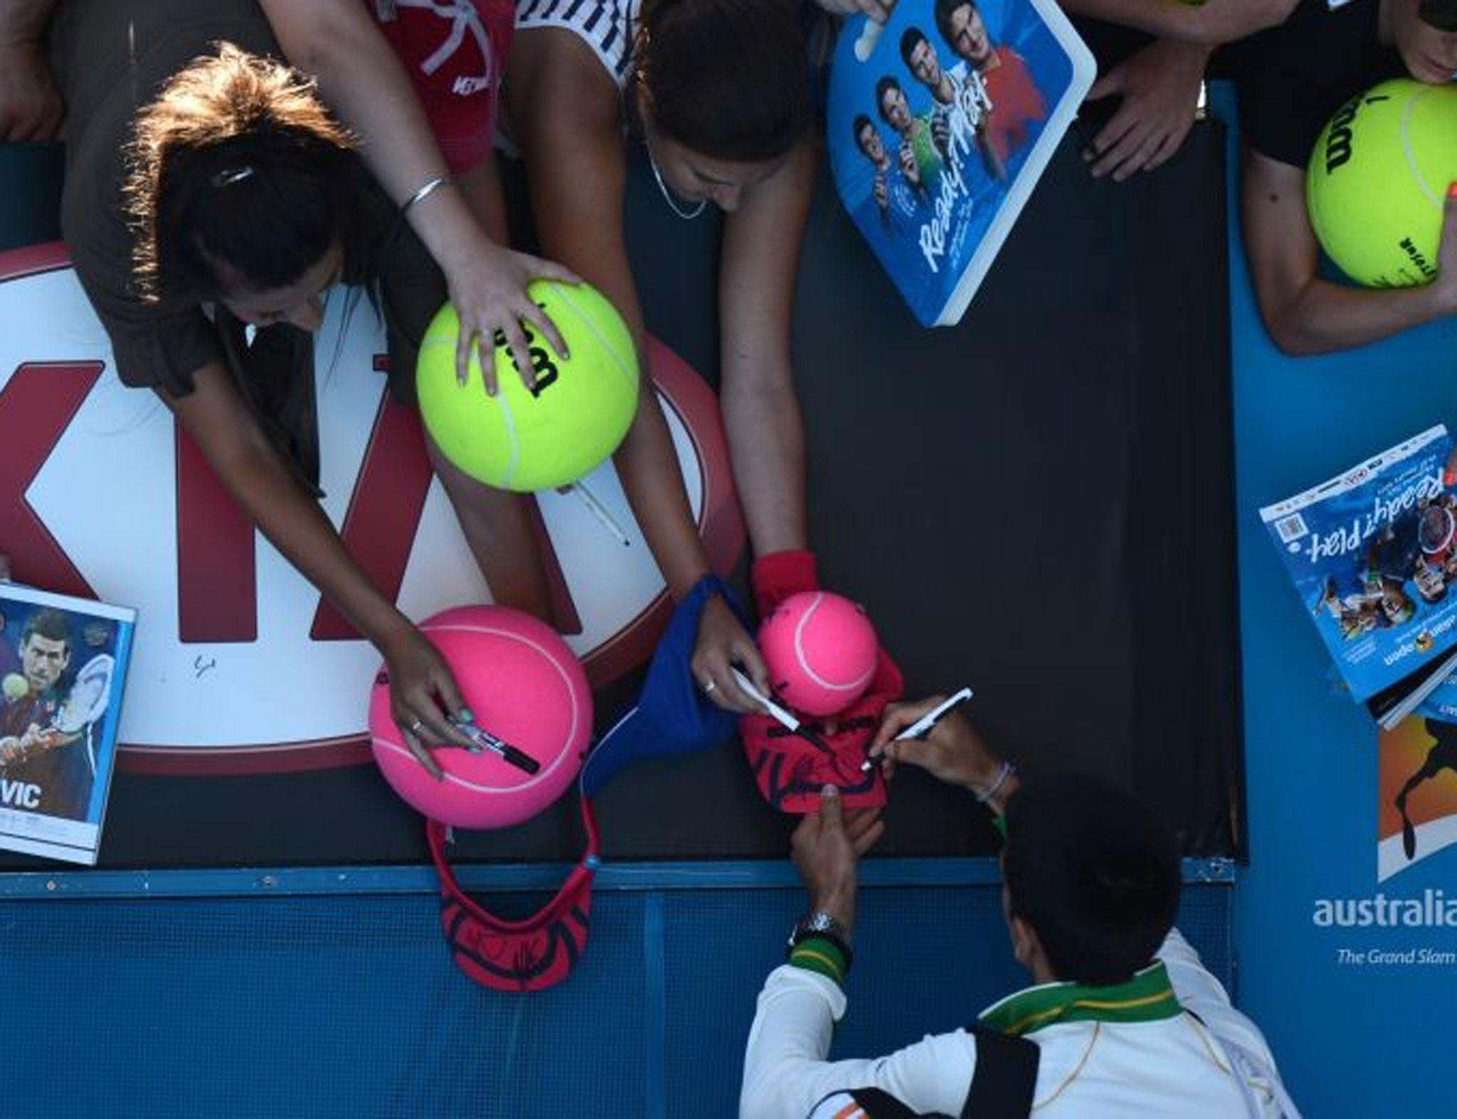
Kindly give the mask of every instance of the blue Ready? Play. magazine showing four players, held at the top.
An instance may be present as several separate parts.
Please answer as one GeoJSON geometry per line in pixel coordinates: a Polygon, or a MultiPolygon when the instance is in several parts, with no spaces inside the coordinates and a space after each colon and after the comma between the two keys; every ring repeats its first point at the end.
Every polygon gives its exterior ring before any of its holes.
{"type": "Polygon", "coordinates": [[[960,321],[1094,73],[1052,0],[899,0],[884,25],[845,22],[830,170],[922,325],[960,321]]]}

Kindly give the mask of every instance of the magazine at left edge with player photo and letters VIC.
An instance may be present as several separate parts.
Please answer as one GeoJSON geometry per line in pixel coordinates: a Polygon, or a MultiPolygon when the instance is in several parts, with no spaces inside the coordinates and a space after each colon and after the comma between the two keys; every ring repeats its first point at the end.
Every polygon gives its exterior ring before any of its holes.
{"type": "Polygon", "coordinates": [[[0,848],[96,863],[134,621],[0,583],[0,848]]]}

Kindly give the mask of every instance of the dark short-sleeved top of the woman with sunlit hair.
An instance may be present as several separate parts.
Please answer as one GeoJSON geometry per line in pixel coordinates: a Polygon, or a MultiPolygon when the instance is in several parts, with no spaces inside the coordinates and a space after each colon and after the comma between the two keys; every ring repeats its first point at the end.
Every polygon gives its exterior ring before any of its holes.
{"type": "MultiPolygon", "coordinates": [[[[136,288],[136,230],[122,201],[136,115],[188,63],[216,54],[219,41],[281,57],[255,0],[70,0],[58,9],[50,61],[68,109],[61,230],[121,382],[185,396],[203,366],[226,364],[284,459],[316,490],[313,338],[278,323],[249,345],[226,309],[208,316],[195,299],[166,296],[143,303],[136,288]]],[[[363,258],[345,261],[344,281],[377,281],[389,386],[412,401],[415,357],[446,302],[444,277],[363,166],[357,176],[370,236],[363,258]]]]}

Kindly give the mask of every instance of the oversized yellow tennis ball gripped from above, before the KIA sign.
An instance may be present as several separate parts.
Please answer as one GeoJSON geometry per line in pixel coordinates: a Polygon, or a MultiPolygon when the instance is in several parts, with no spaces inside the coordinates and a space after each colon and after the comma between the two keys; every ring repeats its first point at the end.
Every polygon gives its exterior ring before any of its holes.
{"type": "Polygon", "coordinates": [[[596,469],[622,441],[637,412],[638,367],[632,334],[594,288],[535,280],[527,294],[557,323],[571,353],[564,360],[523,322],[536,385],[527,389],[506,337],[494,339],[495,396],[487,396],[478,356],[465,385],[456,380],[460,321],[449,303],[420,345],[415,389],[436,446],[487,485],[532,492],[567,485],[596,469]]]}

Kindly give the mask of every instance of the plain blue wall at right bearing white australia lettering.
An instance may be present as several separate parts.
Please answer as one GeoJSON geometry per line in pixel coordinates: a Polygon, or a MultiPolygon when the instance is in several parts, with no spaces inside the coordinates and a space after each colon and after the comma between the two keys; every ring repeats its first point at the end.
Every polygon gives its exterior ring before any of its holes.
{"type": "MultiPolygon", "coordinates": [[[[1218,103],[1233,119],[1230,101],[1218,103]]],[[[1314,915],[1320,899],[1419,899],[1444,886],[1457,896],[1457,848],[1377,884],[1375,726],[1332,688],[1330,659],[1257,510],[1435,423],[1457,424],[1457,326],[1434,323],[1343,354],[1278,353],[1237,237],[1233,127],[1230,143],[1250,838],[1234,927],[1240,1001],[1265,1029],[1307,1116],[1451,1115],[1438,1074],[1450,1052],[1457,965],[1387,953],[1457,953],[1457,928],[1320,927],[1314,915]]]]}

